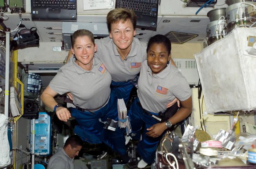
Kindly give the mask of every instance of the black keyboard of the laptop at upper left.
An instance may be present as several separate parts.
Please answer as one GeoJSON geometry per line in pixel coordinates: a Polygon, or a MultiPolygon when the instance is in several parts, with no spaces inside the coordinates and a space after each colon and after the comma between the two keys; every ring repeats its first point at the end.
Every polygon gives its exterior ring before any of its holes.
{"type": "Polygon", "coordinates": [[[31,0],[32,7],[56,7],[56,8],[67,8],[75,10],[75,0],[31,0]]]}

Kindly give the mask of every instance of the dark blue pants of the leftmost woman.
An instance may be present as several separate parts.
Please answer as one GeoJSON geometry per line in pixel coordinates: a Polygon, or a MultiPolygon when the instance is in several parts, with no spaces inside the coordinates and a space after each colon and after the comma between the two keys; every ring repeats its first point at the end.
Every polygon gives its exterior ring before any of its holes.
{"type": "Polygon", "coordinates": [[[75,126],[74,132],[79,135],[83,141],[88,143],[104,142],[114,151],[119,154],[126,154],[124,128],[116,127],[116,131],[104,129],[104,123],[107,118],[118,120],[117,113],[117,97],[111,93],[108,103],[94,114],[87,111],[80,111],[76,108],[71,108],[71,116],[75,117],[79,126],[75,126]]]}

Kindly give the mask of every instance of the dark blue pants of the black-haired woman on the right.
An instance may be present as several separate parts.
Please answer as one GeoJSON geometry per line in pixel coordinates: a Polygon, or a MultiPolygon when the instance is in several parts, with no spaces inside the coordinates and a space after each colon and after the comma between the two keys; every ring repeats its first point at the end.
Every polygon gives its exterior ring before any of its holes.
{"type": "Polygon", "coordinates": [[[139,102],[138,97],[133,101],[131,109],[128,112],[132,126],[132,133],[136,133],[136,136],[132,138],[139,139],[140,133],[142,133],[142,140],[138,143],[137,150],[140,157],[149,164],[154,162],[156,148],[165,132],[156,138],[146,135],[146,132],[148,132],[147,128],[157,124],[158,122],[152,116],[145,114],[137,102],[139,102]],[[143,131],[140,131],[142,126],[144,126],[142,129],[143,131]]]}

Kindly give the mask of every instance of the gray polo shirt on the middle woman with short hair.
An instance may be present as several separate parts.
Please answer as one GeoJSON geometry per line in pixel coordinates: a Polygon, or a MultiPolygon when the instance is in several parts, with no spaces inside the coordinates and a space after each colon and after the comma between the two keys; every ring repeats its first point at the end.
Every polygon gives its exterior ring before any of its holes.
{"type": "Polygon", "coordinates": [[[147,58],[147,44],[140,42],[136,37],[133,38],[127,61],[121,59],[112,38],[95,39],[95,43],[98,46],[95,57],[104,63],[112,80],[116,82],[134,79],[140,73],[142,62],[147,58]]]}

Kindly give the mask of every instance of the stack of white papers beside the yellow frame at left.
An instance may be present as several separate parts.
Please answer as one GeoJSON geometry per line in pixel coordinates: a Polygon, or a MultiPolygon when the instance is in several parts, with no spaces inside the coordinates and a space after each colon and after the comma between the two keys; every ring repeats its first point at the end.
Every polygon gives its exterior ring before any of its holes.
{"type": "Polygon", "coordinates": [[[21,100],[15,87],[10,87],[10,109],[13,117],[21,114],[21,100]]]}

